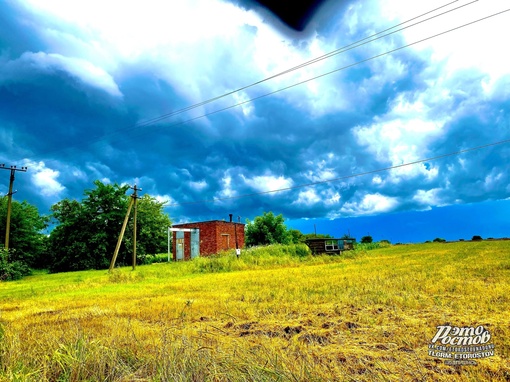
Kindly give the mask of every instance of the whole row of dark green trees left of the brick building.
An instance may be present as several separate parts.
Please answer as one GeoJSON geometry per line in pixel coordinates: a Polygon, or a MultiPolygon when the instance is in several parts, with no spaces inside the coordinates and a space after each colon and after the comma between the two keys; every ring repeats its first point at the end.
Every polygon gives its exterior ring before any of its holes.
{"type": "MultiPolygon", "coordinates": [[[[108,268],[127,212],[127,185],[97,180],[81,201],[64,199],[41,215],[27,202],[12,202],[9,251],[0,252],[0,279],[16,279],[30,268],[50,272],[108,268]],[[49,228],[51,232],[48,234],[49,228]]],[[[137,201],[137,257],[166,251],[170,217],[165,202],[150,195],[137,201]]],[[[7,198],[0,199],[0,239],[5,242],[7,198]]],[[[133,255],[132,219],[128,223],[117,264],[133,255]]]]}

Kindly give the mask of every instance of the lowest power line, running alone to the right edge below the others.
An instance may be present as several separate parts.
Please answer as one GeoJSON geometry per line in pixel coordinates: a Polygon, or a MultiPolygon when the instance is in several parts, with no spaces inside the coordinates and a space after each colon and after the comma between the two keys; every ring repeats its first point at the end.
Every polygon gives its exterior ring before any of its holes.
{"type": "Polygon", "coordinates": [[[401,168],[401,167],[412,166],[412,165],[419,164],[419,163],[432,162],[432,161],[435,161],[438,159],[447,158],[447,157],[451,157],[451,156],[455,156],[455,155],[460,155],[460,154],[468,153],[468,152],[475,151],[475,150],[481,150],[481,149],[485,149],[487,147],[502,145],[505,143],[510,143],[510,139],[505,139],[505,140],[498,141],[498,142],[488,143],[488,144],[481,145],[481,146],[471,147],[471,148],[464,149],[464,150],[454,151],[454,152],[451,152],[448,154],[442,154],[442,155],[437,155],[437,156],[430,157],[430,158],[420,159],[420,160],[413,161],[413,162],[403,163],[403,164],[394,165],[394,166],[390,166],[390,167],[384,167],[384,168],[380,168],[377,170],[365,171],[365,172],[360,172],[357,174],[345,175],[345,176],[326,179],[326,180],[319,180],[317,182],[304,183],[304,184],[299,184],[296,186],[279,188],[276,190],[253,192],[253,193],[249,193],[249,194],[229,196],[229,197],[224,197],[224,198],[204,199],[204,200],[198,200],[198,201],[194,201],[194,202],[182,202],[182,203],[168,204],[167,207],[176,207],[176,206],[190,205],[190,204],[216,203],[216,202],[221,202],[221,201],[225,201],[225,200],[249,198],[249,197],[258,196],[258,195],[274,194],[274,193],[282,192],[282,191],[295,190],[298,188],[312,187],[312,186],[317,186],[319,184],[338,182],[341,180],[357,178],[360,176],[365,176],[365,175],[370,175],[370,174],[376,174],[376,173],[383,172],[383,171],[394,170],[394,169],[401,168]]]}

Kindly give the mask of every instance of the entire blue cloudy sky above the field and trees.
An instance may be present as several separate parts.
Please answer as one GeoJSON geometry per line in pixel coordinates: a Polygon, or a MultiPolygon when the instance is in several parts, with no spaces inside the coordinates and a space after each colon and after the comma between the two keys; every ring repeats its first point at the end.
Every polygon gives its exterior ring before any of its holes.
{"type": "Polygon", "coordinates": [[[330,1],[296,32],[246,1],[0,2],[0,163],[29,168],[14,198],[49,213],[99,179],[175,223],[273,211],[305,233],[510,236],[510,12],[431,38],[504,0],[245,88],[447,3],[330,1]]]}

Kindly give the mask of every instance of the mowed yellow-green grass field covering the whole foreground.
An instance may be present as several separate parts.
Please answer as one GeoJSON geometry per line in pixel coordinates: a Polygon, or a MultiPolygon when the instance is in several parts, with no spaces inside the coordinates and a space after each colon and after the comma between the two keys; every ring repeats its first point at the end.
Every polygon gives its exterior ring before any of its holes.
{"type": "Polygon", "coordinates": [[[36,274],[0,283],[5,381],[509,381],[510,241],[36,274]],[[428,355],[442,324],[495,356],[428,355]]]}

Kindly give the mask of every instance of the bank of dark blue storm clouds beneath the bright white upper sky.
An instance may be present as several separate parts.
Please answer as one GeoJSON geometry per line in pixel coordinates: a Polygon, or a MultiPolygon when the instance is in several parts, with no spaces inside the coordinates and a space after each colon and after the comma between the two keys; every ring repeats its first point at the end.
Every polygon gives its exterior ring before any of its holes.
{"type": "MultiPolygon", "coordinates": [[[[0,7],[13,15],[5,20],[9,33],[0,32],[8,52],[0,57],[0,162],[29,165],[16,179],[16,197],[44,212],[61,198],[80,199],[96,179],[136,182],[167,199],[175,221],[228,213],[244,221],[269,210],[290,219],[372,216],[510,197],[506,146],[299,187],[509,139],[510,77],[432,64],[431,51],[399,51],[216,112],[399,46],[403,37],[170,115],[267,77],[286,64],[280,55],[292,67],[306,60],[301,56],[317,56],[313,49],[336,47],[338,31],[358,35],[365,14],[356,27],[344,25],[356,7],[285,44],[263,40],[268,32],[254,23],[240,26],[228,44],[207,36],[206,49],[184,44],[185,53],[174,53],[170,44],[169,52],[140,57],[105,56],[103,46],[90,55],[100,42],[87,39],[99,34],[69,21],[51,24],[73,38],[60,48],[47,36],[43,43],[36,37],[43,16],[39,25],[36,13],[0,7]],[[274,55],[264,44],[275,44],[274,55]]],[[[5,189],[6,179],[0,185],[5,189]]]]}

